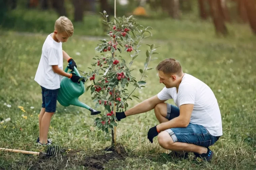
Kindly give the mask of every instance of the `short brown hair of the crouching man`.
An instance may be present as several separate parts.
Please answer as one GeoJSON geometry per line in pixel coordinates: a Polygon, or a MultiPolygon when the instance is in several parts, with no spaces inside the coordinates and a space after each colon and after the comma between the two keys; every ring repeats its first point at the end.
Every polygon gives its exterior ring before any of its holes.
{"type": "Polygon", "coordinates": [[[157,67],[157,71],[162,71],[164,74],[177,74],[182,75],[182,68],[180,63],[174,58],[167,58],[161,61],[157,67]]]}

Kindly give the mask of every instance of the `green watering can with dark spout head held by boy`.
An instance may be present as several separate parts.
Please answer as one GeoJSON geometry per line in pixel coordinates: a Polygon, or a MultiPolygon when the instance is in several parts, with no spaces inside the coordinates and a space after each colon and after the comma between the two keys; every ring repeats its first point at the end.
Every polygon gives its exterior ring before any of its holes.
{"type": "MultiPolygon", "coordinates": [[[[68,68],[65,69],[65,72],[67,73],[68,68]]],[[[69,72],[72,73],[72,72],[69,72]]],[[[81,77],[78,70],[74,67],[74,73],[81,77]]],[[[67,77],[63,77],[61,79],[60,88],[58,90],[58,102],[63,105],[64,107],[68,107],[69,105],[75,105],[78,107],[86,108],[89,111],[91,111],[91,115],[97,115],[100,114],[100,111],[96,111],[92,108],[90,108],[85,103],[82,103],[78,100],[78,97],[84,94],[85,92],[85,86],[82,81],[80,81],[80,84],[72,82],[67,77]]]]}

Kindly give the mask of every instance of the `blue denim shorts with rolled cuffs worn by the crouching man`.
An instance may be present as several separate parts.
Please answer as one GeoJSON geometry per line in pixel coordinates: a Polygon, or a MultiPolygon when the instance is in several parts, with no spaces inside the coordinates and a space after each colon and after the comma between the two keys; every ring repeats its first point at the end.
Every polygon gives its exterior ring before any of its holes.
{"type": "MultiPolygon", "coordinates": [[[[171,120],[179,115],[179,108],[167,103],[166,118],[171,120]]],[[[203,126],[192,123],[189,123],[186,128],[171,128],[165,131],[172,137],[173,142],[192,143],[204,147],[213,145],[219,139],[219,136],[211,135],[203,126]]]]}

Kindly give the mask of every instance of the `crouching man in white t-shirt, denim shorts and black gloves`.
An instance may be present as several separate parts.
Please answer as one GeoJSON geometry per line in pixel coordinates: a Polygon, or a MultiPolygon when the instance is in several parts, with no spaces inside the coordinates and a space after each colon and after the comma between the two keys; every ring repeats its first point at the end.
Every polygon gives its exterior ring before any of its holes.
{"type": "Polygon", "coordinates": [[[213,91],[199,79],[183,73],[173,58],[161,61],[156,69],[159,82],[165,87],[126,112],[117,112],[118,121],[154,109],[160,124],[148,131],[151,143],[158,136],[159,144],[174,151],[175,156],[185,152],[187,158],[188,152],[193,152],[195,157],[210,161],[213,151],[209,146],[222,135],[220,109],[213,91]],[[168,99],[173,99],[178,107],[165,103],[168,99]]]}

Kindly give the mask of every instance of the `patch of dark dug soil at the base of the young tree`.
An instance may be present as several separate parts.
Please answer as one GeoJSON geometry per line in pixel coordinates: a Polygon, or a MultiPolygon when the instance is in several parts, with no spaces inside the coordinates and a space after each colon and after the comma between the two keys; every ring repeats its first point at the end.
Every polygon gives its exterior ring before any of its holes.
{"type": "Polygon", "coordinates": [[[106,147],[104,150],[93,152],[89,157],[82,154],[80,150],[72,150],[68,153],[46,157],[40,154],[37,158],[28,161],[31,170],[61,170],[75,167],[86,167],[88,170],[104,169],[104,164],[110,160],[124,160],[127,156],[122,144],[106,147]]]}

